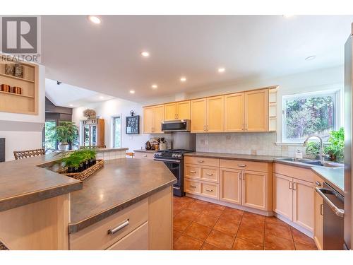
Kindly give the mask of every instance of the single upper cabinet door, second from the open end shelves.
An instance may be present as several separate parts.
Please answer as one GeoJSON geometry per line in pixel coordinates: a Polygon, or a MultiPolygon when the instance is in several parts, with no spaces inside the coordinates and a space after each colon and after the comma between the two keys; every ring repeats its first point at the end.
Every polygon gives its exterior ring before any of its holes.
{"type": "Polygon", "coordinates": [[[245,130],[244,93],[225,95],[225,131],[245,130]]]}

